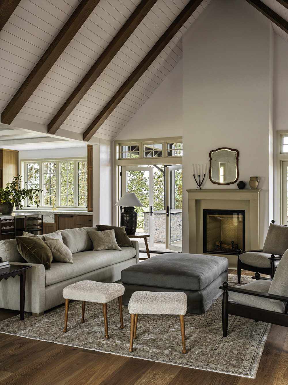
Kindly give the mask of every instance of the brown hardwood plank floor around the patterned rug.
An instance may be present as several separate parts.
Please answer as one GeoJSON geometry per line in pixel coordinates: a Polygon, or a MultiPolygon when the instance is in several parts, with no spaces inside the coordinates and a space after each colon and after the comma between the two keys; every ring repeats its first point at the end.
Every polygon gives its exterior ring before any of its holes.
{"type": "MultiPolygon", "coordinates": [[[[235,271],[229,271],[235,274],[235,271]]],[[[243,275],[252,273],[243,271],[243,275]]],[[[18,314],[0,310],[0,320],[18,314]]],[[[273,325],[256,379],[139,360],[0,333],[1,385],[287,385],[288,328],[273,325]]]]}

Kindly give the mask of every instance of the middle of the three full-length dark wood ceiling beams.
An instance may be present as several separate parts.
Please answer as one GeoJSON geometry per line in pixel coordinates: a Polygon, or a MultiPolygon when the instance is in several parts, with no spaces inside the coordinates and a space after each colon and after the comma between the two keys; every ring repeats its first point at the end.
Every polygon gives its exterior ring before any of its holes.
{"type": "Polygon", "coordinates": [[[112,39],[111,43],[99,56],[94,65],[90,68],[75,90],[62,105],[60,110],[48,124],[49,134],[55,134],[65,119],[70,115],[76,105],[80,102],[86,92],[92,87],[99,75],[102,74],[113,57],[117,54],[122,45],[126,42],[129,36],[134,32],[137,26],[141,23],[147,13],[151,10],[157,0],[142,0],[138,7],[134,10],[121,30],[112,39]]]}

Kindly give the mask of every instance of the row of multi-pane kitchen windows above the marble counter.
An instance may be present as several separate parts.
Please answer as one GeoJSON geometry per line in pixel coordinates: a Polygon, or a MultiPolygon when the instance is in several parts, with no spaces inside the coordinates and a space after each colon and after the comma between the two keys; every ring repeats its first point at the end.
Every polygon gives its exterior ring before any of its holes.
{"type": "MultiPolygon", "coordinates": [[[[39,188],[42,207],[87,206],[87,160],[24,162],[28,187],[39,188]]],[[[29,199],[26,206],[35,206],[29,199]]]]}

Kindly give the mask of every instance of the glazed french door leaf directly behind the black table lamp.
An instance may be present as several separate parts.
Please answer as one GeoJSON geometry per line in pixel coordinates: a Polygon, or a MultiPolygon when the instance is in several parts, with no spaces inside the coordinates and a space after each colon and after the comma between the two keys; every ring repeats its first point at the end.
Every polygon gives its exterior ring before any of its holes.
{"type": "MultiPolygon", "coordinates": [[[[149,248],[154,246],[153,218],[153,166],[126,166],[121,168],[121,191],[134,192],[143,207],[136,208],[138,214],[137,233],[149,233],[149,248]]],[[[139,240],[139,247],[145,247],[144,239],[139,240]]]]}

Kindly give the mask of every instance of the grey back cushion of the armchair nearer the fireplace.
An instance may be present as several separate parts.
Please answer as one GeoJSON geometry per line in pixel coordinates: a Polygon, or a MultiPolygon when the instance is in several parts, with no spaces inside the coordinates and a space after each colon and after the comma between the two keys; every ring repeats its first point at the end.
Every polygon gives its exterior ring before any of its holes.
{"type": "Polygon", "coordinates": [[[270,223],[263,253],[283,255],[288,249],[288,227],[270,223]]]}

